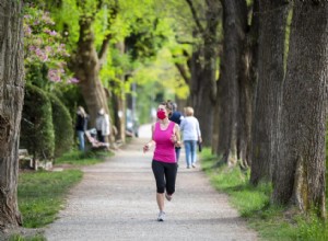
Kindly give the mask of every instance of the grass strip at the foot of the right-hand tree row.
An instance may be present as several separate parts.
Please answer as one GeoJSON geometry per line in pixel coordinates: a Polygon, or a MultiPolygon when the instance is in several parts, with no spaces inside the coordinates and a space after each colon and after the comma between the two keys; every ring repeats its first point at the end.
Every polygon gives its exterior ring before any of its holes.
{"type": "Polygon", "coordinates": [[[202,170],[210,177],[212,185],[230,196],[230,202],[247,220],[250,228],[258,231],[262,240],[328,240],[327,226],[316,215],[300,215],[298,211],[270,204],[272,186],[260,183],[249,184],[249,172],[242,172],[238,167],[214,167],[215,161],[209,149],[201,154],[202,170]]]}

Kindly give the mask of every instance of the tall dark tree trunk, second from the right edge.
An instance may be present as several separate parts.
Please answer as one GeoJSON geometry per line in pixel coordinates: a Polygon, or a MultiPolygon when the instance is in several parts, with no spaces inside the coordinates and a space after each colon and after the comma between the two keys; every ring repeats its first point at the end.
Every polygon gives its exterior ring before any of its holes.
{"type": "Polygon", "coordinates": [[[259,1],[258,82],[251,128],[250,182],[271,181],[277,159],[278,111],[284,76],[285,0],[259,1]]]}

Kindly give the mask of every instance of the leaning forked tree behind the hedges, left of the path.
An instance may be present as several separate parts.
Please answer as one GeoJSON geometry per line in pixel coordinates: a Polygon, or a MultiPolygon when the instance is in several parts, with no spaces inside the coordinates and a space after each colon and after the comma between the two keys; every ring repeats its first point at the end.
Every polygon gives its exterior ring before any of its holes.
{"type": "MultiPolygon", "coordinates": [[[[115,2],[115,4],[109,5],[112,14],[108,18],[108,23],[104,23],[107,26],[110,26],[113,19],[117,15],[118,5],[117,1],[115,2]]],[[[77,53],[71,61],[71,69],[80,80],[79,84],[91,114],[92,124],[94,124],[96,114],[102,107],[109,113],[107,96],[99,79],[99,71],[107,57],[112,33],[107,30],[107,34],[104,36],[102,46],[97,51],[93,28],[95,15],[104,8],[103,4],[102,1],[78,1],[81,9],[79,19],[80,35],[77,53]]]]}

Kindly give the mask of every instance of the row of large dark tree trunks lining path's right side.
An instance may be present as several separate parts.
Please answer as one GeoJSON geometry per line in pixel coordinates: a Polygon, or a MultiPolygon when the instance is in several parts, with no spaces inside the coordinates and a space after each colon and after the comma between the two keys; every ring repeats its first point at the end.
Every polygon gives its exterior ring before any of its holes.
{"type": "Polygon", "coordinates": [[[272,182],[271,203],[324,217],[327,2],[186,1],[202,39],[186,67],[206,144],[251,184],[272,182]]]}

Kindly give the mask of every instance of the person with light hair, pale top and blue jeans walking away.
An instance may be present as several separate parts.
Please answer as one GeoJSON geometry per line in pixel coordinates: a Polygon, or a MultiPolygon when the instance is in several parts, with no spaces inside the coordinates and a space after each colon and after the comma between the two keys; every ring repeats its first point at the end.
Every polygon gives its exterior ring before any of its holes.
{"type": "Polygon", "coordinates": [[[186,117],[180,123],[180,129],[184,138],[184,146],[186,150],[187,169],[196,168],[197,161],[197,141],[201,144],[201,134],[199,122],[194,116],[194,108],[188,106],[185,108],[186,117]]]}

